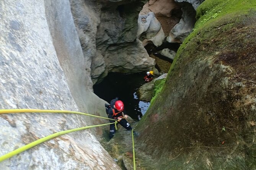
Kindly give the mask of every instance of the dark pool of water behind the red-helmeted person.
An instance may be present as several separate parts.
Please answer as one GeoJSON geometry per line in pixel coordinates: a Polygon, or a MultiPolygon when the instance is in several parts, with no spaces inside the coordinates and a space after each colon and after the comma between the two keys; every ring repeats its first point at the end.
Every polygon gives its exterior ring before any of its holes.
{"type": "Polygon", "coordinates": [[[109,73],[103,82],[94,85],[94,93],[108,102],[119,97],[124,102],[126,113],[132,119],[140,120],[147,111],[150,102],[140,101],[137,97],[137,89],[145,82],[145,73],[121,74],[109,73]]]}

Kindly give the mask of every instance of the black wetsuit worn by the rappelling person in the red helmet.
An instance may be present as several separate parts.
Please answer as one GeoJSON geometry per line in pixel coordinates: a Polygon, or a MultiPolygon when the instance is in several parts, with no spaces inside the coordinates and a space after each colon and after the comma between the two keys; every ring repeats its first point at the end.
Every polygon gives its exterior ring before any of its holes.
{"type": "MultiPolygon", "coordinates": [[[[109,114],[109,118],[111,119],[116,119],[118,117],[123,117],[122,113],[125,114],[125,111],[117,111],[117,109],[114,108],[114,104],[116,103],[118,99],[113,99],[110,101],[110,105],[111,108],[108,109],[108,114],[109,114]]],[[[122,127],[126,128],[127,130],[132,130],[132,127],[130,126],[130,123],[127,122],[126,119],[121,119],[120,122],[118,122],[117,124],[122,125],[122,127]]],[[[115,124],[111,124],[110,125],[110,129],[109,129],[109,138],[113,138],[114,134],[116,133],[116,128],[115,128],[115,124]]]]}

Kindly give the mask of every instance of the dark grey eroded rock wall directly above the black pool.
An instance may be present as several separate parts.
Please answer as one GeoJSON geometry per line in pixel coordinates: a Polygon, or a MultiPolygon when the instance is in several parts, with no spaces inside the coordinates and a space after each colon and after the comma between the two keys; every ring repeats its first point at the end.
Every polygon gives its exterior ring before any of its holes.
{"type": "Polygon", "coordinates": [[[155,60],[136,39],[142,1],[70,2],[83,53],[88,63],[92,62],[93,84],[108,72],[135,73],[152,69],[155,60]]]}

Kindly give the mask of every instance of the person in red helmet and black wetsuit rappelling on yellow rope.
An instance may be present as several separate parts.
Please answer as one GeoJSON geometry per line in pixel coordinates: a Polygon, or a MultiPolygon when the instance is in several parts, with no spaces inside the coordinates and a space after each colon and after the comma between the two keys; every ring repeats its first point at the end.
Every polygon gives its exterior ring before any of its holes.
{"type": "MultiPolygon", "coordinates": [[[[108,108],[108,117],[110,119],[116,119],[117,121],[119,121],[118,124],[122,125],[122,127],[126,128],[127,130],[132,130],[130,123],[128,123],[126,120],[128,115],[124,111],[124,103],[121,100],[118,100],[118,98],[115,98],[110,101],[110,107],[108,108]]],[[[115,132],[115,124],[111,124],[109,129],[110,139],[113,138],[115,132]]]]}

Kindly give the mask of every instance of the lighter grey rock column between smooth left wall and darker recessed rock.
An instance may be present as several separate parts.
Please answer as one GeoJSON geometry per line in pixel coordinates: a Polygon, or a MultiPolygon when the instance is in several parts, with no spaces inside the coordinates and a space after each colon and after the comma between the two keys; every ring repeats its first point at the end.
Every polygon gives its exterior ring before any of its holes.
{"type": "Polygon", "coordinates": [[[91,76],[91,80],[95,84],[98,77],[105,70],[104,59],[102,59],[102,55],[99,52],[96,52],[96,33],[100,22],[100,5],[92,0],[70,0],[70,6],[86,60],[85,72],[91,76]],[[99,65],[98,61],[100,59],[101,64],[99,65]]]}

